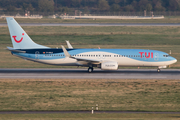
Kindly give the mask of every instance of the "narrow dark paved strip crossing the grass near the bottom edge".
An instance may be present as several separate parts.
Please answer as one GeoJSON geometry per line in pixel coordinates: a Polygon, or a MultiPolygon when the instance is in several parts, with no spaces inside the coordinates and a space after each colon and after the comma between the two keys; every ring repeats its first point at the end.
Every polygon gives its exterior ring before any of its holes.
{"type": "MultiPolygon", "coordinates": [[[[91,113],[91,111],[0,111],[0,114],[57,114],[57,113],[91,113]]],[[[180,114],[180,112],[136,112],[136,111],[94,111],[94,113],[126,114],[180,114]]]]}

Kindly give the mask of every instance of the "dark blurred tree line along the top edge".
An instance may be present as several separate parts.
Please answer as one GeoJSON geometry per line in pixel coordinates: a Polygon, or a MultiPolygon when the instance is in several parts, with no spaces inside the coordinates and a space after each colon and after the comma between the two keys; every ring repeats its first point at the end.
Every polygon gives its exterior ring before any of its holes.
{"type": "Polygon", "coordinates": [[[0,0],[0,10],[38,12],[180,11],[180,0],[0,0]]]}

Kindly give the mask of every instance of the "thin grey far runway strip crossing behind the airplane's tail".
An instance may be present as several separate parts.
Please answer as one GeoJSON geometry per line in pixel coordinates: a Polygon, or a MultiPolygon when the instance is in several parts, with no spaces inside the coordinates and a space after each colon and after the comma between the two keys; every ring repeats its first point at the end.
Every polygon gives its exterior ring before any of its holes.
{"type": "MultiPolygon", "coordinates": [[[[21,26],[180,26],[180,23],[20,23],[21,26]]],[[[0,26],[7,26],[0,23],[0,26]]]]}

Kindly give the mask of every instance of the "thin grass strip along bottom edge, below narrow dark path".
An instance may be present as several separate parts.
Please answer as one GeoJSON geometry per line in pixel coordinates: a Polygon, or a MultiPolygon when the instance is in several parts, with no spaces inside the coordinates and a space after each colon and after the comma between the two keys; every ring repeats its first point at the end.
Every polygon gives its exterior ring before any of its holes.
{"type": "Polygon", "coordinates": [[[179,114],[0,114],[2,120],[177,120],[179,114]]]}

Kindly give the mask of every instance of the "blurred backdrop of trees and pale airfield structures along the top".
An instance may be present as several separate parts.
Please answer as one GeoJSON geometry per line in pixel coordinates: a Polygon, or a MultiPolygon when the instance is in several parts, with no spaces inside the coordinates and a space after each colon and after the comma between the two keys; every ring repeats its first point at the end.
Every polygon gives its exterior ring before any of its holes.
{"type": "MultiPolygon", "coordinates": [[[[180,0],[0,0],[0,16],[171,17],[180,16],[180,0]]],[[[70,18],[76,19],[66,19],[70,18]]]]}

